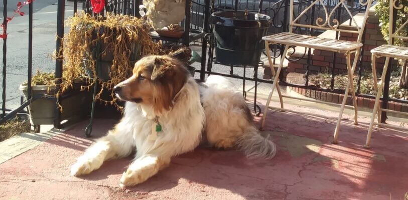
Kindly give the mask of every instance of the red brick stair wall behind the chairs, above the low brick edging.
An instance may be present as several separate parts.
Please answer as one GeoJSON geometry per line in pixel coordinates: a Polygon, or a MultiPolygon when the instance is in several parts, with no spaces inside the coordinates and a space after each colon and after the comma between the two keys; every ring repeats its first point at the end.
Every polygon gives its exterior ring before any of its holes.
{"type": "MultiPolygon", "coordinates": [[[[348,23],[348,21],[347,21],[348,23]]],[[[342,25],[342,28],[347,29],[355,29],[353,26],[342,25]]],[[[349,32],[340,32],[340,39],[342,40],[349,40],[349,41],[356,41],[357,40],[357,33],[349,33],[349,32]]],[[[378,16],[374,14],[374,12],[369,13],[369,17],[366,23],[366,34],[365,34],[365,41],[364,41],[364,53],[362,58],[362,66],[366,68],[371,68],[371,53],[370,50],[385,44],[385,40],[381,34],[381,30],[379,28],[379,21],[378,16]]],[[[294,53],[290,55],[291,59],[299,59],[303,55],[302,53],[294,53]]],[[[354,55],[352,56],[351,62],[353,62],[354,55]]],[[[325,51],[325,50],[318,50],[314,49],[313,53],[311,54],[311,65],[309,67],[310,70],[315,72],[331,72],[333,62],[333,52],[325,51]]],[[[347,65],[346,65],[346,57],[344,54],[337,53],[336,62],[336,72],[346,72],[347,65]]],[[[299,72],[304,73],[306,72],[306,63],[307,63],[307,54],[297,61],[289,61],[288,63],[288,72],[299,72]]],[[[377,58],[377,68],[381,71],[384,64],[384,57],[377,58]]]]}

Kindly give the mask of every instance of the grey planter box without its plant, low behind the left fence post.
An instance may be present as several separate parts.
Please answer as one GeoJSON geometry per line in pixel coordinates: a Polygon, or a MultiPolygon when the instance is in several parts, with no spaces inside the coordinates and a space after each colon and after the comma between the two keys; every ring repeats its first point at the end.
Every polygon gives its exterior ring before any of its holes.
{"type": "MultiPolygon", "coordinates": [[[[75,84],[74,90],[66,92],[63,96],[64,99],[60,102],[63,108],[61,120],[68,119],[72,116],[81,115],[83,114],[84,110],[89,109],[89,102],[91,102],[92,99],[92,96],[90,95],[91,92],[79,92],[77,89],[75,89],[75,84]]],[[[27,97],[27,86],[20,85],[19,89],[22,90],[24,95],[27,97]]],[[[47,98],[47,95],[55,95],[56,93],[57,91],[55,86],[32,86],[32,96],[38,97],[28,106],[30,123],[32,125],[54,123],[57,103],[55,98],[47,98]]]]}

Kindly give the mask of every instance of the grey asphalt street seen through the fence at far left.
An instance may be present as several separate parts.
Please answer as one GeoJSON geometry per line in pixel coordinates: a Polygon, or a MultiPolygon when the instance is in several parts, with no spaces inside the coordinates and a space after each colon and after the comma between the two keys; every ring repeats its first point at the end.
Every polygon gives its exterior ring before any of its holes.
{"type": "MultiPolygon", "coordinates": [[[[8,16],[13,14],[17,2],[18,0],[9,1],[7,7],[11,11],[8,11],[8,16]]],[[[36,0],[33,4],[35,11],[33,14],[33,74],[37,69],[41,71],[54,71],[55,69],[55,60],[51,58],[51,54],[56,48],[57,5],[55,2],[56,0],[36,0]]],[[[3,3],[0,4],[3,6],[3,3]]],[[[66,2],[65,17],[73,14],[72,8],[72,3],[66,2]]],[[[3,7],[0,10],[3,11],[3,7]]],[[[28,5],[22,11],[26,12],[26,15],[16,16],[9,22],[7,29],[6,107],[9,109],[20,105],[22,91],[18,88],[20,83],[27,79],[28,73],[28,5]]],[[[0,13],[3,15],[3,12],[0,13]]],[[[3,43],[3,39],[0,40],[0,54],[2,56],[3,43]]],[[[3,80],[0,82],[0,87],[3,86],[2,82],[3,80]]]]}

